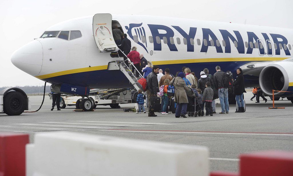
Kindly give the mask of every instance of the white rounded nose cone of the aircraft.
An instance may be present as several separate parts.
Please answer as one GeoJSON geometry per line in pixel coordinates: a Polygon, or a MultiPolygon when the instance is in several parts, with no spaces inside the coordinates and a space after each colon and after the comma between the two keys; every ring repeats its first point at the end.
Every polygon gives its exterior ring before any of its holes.
{"type": "Polygon", "coordinates": [[[32,75],[39,75],[43,63],[43,48],[38,40],[24,45],[11,55],[11,62],[20,70],[32,75]]]}

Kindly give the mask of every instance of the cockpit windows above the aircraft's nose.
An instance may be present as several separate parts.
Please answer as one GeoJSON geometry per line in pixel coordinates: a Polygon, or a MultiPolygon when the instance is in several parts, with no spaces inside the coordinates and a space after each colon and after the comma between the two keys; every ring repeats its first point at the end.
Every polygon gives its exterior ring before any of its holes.
{"type": "Polygon", "coordinates": [[[45,31],[43,33],[43,35],[41,36],[41,38],[48,38],[48,37],[56,37],[57,38],[62,38],[64,40],[73,40],[76,38],[80,38],[81,37],[81,32],[80,31],[45,31]]]}

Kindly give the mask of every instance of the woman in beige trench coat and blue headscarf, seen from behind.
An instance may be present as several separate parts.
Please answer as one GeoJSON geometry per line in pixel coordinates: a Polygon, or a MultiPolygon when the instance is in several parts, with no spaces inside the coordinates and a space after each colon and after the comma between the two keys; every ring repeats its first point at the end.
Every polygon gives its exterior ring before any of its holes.
{"type": "Polygon", "coordinates": [[[171,83],[173,83],[174,86],[174,92],[175,92],[175,97],[174,101],[177,104],[176,108],[176,113],[175,117],[179,118],[184,117],[186,118],[186,110],[187,110],[187,104],[188,104],[188,99],[185,90],[189,90],[188,87],[185,84],[185,81],[182,79],[184,77],[184,73],[180,72],[178,73],[177,77],[173,78],[171,83]]]}

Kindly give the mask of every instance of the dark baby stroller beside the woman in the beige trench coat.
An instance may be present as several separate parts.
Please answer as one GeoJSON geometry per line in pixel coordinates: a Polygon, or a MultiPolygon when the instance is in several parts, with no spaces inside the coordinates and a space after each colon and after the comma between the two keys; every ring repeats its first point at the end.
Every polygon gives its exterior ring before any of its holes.
{"type": "MultiPolygon", "coordinates": [[[[189,88],[190,89],[190,88],[189,88]]],[[[196,94],[190,89],[189,91],[186,91],[188,104],[187,104],[187,110],[186,114],[188,116],[204,116],[205,112],[201,110],[200,105],[198,104],[198,101],[196,99],[196,94]]]]}

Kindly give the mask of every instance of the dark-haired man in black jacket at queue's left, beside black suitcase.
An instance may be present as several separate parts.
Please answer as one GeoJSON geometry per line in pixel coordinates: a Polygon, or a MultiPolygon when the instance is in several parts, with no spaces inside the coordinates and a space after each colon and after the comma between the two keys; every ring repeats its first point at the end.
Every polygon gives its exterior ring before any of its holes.
{"type": "MultiPolygon", "coordinates": [[[[157,79],[157,74],[159,72],[159,66],[154,65],[152,72],[147,76],[147,95],[150,99],[151,97],[156,97],[157,92],[159,92],[159,83],[157,79]]],[[[149,101],[149,117],[156,117],[154,111],[150,110],[151,102],[149,101]]]]}

